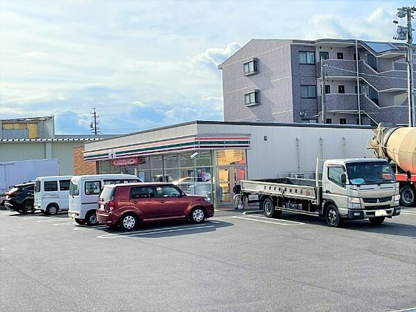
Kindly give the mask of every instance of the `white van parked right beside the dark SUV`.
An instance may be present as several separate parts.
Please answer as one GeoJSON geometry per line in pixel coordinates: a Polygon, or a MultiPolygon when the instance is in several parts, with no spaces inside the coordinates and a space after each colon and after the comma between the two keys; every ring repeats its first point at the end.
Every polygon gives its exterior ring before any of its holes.
{"type": "Polygon", "coordinates": [[[56,215],[69,208],[69,182],[72,176],[40,176],[35,179],[35,209],[56,215]]]}

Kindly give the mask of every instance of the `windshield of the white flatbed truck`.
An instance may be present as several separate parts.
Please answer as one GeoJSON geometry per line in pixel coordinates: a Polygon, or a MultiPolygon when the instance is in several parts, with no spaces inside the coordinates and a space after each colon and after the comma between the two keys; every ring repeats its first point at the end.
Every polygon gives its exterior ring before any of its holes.
{"type": "Polygon", "coordinates": [[[347,163],[346,167],[349,181],[352,184],[380,184],[396,181],[395,174],[387,162],[347,163]]]}

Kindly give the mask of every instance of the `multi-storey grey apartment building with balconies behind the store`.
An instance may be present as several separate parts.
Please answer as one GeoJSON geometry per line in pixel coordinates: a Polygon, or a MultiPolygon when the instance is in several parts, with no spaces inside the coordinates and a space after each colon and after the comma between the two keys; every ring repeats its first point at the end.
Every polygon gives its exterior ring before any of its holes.
{"type": "Polygon", "coordinates": [[[218,69],[225,121],[408,123],[404,44],[253,39],[218,69]]]}

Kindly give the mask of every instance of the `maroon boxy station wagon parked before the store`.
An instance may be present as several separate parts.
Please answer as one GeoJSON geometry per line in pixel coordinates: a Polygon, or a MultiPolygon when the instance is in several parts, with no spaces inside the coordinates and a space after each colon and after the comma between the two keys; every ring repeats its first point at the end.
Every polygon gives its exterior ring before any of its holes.
{"type": "Polygon", "coordinates": [[[187,195],[172,183],[125,183],[104,186],[96,215],[103,224],[129,231],[139,222],[204,222],[214,216],[214,206],[209,198],[187,195]]]}

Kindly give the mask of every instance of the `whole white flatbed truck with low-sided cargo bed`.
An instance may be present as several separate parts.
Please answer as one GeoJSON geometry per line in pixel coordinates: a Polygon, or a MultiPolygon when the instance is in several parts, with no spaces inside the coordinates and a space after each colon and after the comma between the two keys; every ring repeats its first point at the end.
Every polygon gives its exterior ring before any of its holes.
{"type": "Polygon", "coordinates": [[[280,217],[283,211],[315,215],[324,217],[331,227],[340,227],[343,220],[365,218],[379,225],[385,217],[400,214],[399,183],[382,159],[324,161],[322,180],[242,180],[240,206],[250,194],[259,196],[266,217],[280,217]]]}

